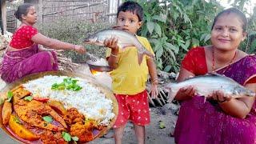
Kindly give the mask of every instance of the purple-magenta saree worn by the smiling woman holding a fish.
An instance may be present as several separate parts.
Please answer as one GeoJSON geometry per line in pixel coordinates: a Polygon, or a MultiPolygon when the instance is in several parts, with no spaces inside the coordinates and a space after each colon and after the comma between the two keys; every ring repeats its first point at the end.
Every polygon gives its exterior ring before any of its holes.
{"type": "MultiPolygon", "coordinates": [[[[218,70],[218,74],[244,85],[256,75],[256,57],[248,55],[225,69],[218,70]]],[[[182,102],[174,138],[178,144],[256,143],[256,103],[250,114],[241,119],[225,114],[218,104],[195,96],[182,102]]]]}

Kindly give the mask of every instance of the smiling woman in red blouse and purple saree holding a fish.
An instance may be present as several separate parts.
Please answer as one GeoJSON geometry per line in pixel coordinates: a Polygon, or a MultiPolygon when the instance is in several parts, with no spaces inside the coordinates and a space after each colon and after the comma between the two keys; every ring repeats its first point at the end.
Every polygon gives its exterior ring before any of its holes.
{"type": "MultiPolygon", "coordinates": [[[[211,30],[212,45],[198,46],[186,54],[178,81],[215,72],[256,91],[256,57],[238,50],[246,38],[246,25],[246,16],[238,9],[230,8],[219,13],[211,30]]],[[[254,97],[231,98],[218,90],[205,102],[193,86],[188,86],[178,90],[175,99],[182,101],[174,130],[175,142],[256,142],[254,97]]]]}

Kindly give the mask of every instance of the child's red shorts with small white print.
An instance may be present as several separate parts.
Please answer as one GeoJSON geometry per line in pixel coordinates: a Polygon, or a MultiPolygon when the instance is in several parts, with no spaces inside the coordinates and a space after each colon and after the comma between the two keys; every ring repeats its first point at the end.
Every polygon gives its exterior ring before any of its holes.
{"type": "Polygon", "coordinates": [[[150,107],[146,90],[135,95],[114,94],[118,100],[118,118],[114,128],[126,125],[128,120],[139,126],[150,124],[150,107]]]}

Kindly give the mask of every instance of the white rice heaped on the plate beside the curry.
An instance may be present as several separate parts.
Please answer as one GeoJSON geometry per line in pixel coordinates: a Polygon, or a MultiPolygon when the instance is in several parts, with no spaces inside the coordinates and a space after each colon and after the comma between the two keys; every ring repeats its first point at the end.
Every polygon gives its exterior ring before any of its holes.
{"type": "Polygon", "coordinates": [[[27,82],[23,86],[32,94],[62,102],[66,109],[74,107],[86,118],[93,119],[104,126],[108,125],[114,118],[112,101],[107,99],[97,87],[82,78],[74,78],[78,80],[77,84],[82,86],[82,90],[51,90],[54,83],[59,84],[63,82],[64,78],[68,77],[47,75],[27,82]]]}

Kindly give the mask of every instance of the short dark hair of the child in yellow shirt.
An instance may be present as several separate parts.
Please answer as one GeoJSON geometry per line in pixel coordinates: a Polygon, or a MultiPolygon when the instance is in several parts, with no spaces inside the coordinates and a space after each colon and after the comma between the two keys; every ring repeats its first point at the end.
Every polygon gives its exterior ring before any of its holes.
{"type": "MultiPolygon", "coordinates": [[[[121,6],[118,7],[118,14],[120,13],[120,11],[126,12],[126,11],[130,11],[133,14],[136,14],[138,16],[138,21],[142,22],[143,21],[143,9],[142,6],[140,6],[137,2],[123,2],[121,6]]],[[[117,14],[117,16],[118,16],[117,14]]]]}

